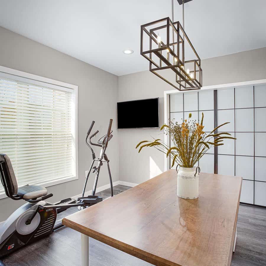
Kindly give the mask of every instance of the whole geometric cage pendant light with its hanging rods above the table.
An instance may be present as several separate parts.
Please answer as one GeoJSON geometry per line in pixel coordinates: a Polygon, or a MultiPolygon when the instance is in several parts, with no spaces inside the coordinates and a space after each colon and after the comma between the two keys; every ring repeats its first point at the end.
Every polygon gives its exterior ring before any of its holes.
{"type": "Polygon", "coordinates": [[[150,72],[179,91],[199,90],[202,87],[200,57],[179,21],[169,17],[141,25],[140,54],[150,62],[150,72]]]}

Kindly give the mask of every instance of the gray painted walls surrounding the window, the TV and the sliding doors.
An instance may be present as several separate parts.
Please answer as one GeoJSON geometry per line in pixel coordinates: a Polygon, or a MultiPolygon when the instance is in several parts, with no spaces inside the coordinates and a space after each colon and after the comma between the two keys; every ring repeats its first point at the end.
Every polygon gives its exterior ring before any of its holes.
{"type": "MultiPolygon", "coordinates": [[[[114,119],[114,137],[108,147],[113,181],[142,183],[164,170],[164,154],[155,149],[146,149],[138,154],[135,149],[139,141],[149,139],[150,136],[163,138],[161,132],[156,129],[117,130],[116,102],[160,97],[160,124],[162,124],[163,92],[172,90],[173,87],[149,71],[118,78],[1,27],[0,36],[0,65],[79,86],[79,179],[48,187],[48,191],[54,194],[51,202],[77,195],[82,190],[85,170],[90,163],[90,153],[84,145],[84,137],[91,120],[96,121],[95,128],[102,132],[106,130],[108,119],[114,119]],[[97,99],[101,100],[101,104],[97,99]]],[[[202,60],[202,69],[204,86],[264,79],[266,48],[205,59],[202,60]]],[[[107,183],[108,173],[104,167],[98,186],[107,183]]],[[[90,179],[88,190],[92,185],[93,180],[90,179]]],[[[1,199],[0,221],[5,220],[23,203],[9,198],[1,199]]]]}

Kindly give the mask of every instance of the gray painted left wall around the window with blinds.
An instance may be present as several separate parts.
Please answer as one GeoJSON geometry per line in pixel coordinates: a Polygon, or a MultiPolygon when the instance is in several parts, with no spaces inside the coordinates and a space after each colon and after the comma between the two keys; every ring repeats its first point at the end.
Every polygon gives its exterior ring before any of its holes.
{"type": "MultiPolygon", "coordinates": [[[[119,180],[118,131],[116,123],[116,102],[118,101],[118,77],[97,67],[51,49],[40,43],[22,37],[0,27],[0,65],[31,74],[77,85],[78,95],[78,163],[79,179],[48,187],[54,196],[50,202],[80,194],[85,170],[91,163],[91,155],[85,146],[85,135],[92,120],[100,134],[106,132],[108,121],[113,118],[114,137],[108,145],[107,154],[111,160],[113,181],[119,180]]],[[[95,129],[96,130],[96,129],[95,129]]],[[[100,135],[98,136],[100,138],[100,135]]],[[[97,149],[98,147],[96,147],[97,149]]],[[[98,151],[98,149],[97,149],[98,151]]],[[[88,182],[87,190],[92,189],[93,179],[88,182]]],[[[108,172],[102,168],[98,186],[108,184],[108,172]]],[[[0,200],[0,222],[5,220],[25,201],[9,198],[0,200]]]]}

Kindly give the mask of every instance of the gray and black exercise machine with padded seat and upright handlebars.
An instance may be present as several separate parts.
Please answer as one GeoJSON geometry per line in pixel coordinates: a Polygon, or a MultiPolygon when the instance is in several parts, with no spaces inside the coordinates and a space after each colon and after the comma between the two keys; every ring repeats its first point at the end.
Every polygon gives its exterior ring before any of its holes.
{"type": "Polygon", "coordinates": [[[6,154],[0,154],[0,178],[6,195],[13,200],[24,199],[27,201],[26,204],[14,211],[6,221],[0,224],[0,257],[14,252],[26,244],[30,244],[40,238],[48,236],[54,230],[61,227],[61,223],[54,226],[58,213],[70,207],[84,209],[102,201],[102,197],[95,196],[95,191],[100,167],[103,162],[107,163],[111,185],[111,196],[113,196],[113,184],[109,160],[105,153],[108,141],[112,138],[112,122],[113,120],[110,119],[107,134],[101,137],[97,143],[93,143],[91,138],[98,133],[98,130],[90,136],[90,132],[95,122],[93,121],[90,125],[86,136],[86,144],[92,151],[93,162],[85,180],[82,197],[78,199],[68,198],[51,204],[45,200],[53,196],[53,194],[48,194],[47,189],[42,186],[26,185],[18,188],[17,179],[9,157],[6,154]],[[93,149],[87,142],[88,138],[91,145],[101,147],[100,157],[97,159],[93,149]],[[98,161],[98,166],[93,167],[95,161],[98,161]],[[92,168],[94,169],[93,172],[96,174],[92,195],[84,197],[87,180],[92,168]]]}

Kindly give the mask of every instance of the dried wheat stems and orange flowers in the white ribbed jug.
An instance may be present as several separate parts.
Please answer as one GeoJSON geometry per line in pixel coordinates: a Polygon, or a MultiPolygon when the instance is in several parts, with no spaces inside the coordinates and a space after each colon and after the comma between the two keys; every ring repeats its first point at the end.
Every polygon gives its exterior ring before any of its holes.
{"type": "Polygon", "coordinates": [[[223,145],[224,139],[236,139],[227,132],[215,134],[218,128],[229,122],[214,128],[211,133],[205,133],[203,131],[203,113],[200,123],[197,123],[196,120],[191,120],[191,116],[189,114],[188,120],[185,119],[182,123],[172,120],[169,125],[161,127],[161,130],[164,130],[164,133],[170,136],[174,144],[173,147],[169,147],[160,139],[153,139],[153,141],[141,141],[137,144],[136,149],[139,148],[140,152],[144,147],[154,147],[165,153],[167,157],[171,157],[172,167],[175,162],[181,167],[194,167],[209,149],[223,145]]]}

